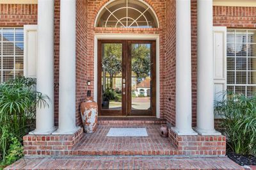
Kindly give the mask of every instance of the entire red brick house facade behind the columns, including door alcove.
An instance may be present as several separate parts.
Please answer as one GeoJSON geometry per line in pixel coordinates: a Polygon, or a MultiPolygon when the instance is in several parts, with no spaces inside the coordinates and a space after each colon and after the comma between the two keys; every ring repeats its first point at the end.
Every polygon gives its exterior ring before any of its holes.
{"type": "MultiPolygon", "coordinates": [[[[95,33],[132,33],[159,34],[160,36],[160,114],[175,125],[175,1],[145,0],[156,12],[159,28],[124,29],[94,27],[97,12],[109,0],[77,1],[77,40],[76,40],[76,122],[81,125],[79,104],[87,89],[93,92],[94,79],[94,34],[95,33]],[[90,86],[86,82],[91,81],[90,86]]],[[[0,4],[0,26],[22,27],[37,23],[36,4],[0,4]]],[[[60,36],[60,0],[55,1],[54,8],[54,104],[55,123],[58,124],[58,76],[59,76],[59,36],[60,36]]],[[[214,6],[214,26],[228,28],[255,28],[255,7],[214,6]]],[[[196,0],[191,0],[191,54],[192,54],[192,112],[193,126],[196,125],[196,0]]]]}

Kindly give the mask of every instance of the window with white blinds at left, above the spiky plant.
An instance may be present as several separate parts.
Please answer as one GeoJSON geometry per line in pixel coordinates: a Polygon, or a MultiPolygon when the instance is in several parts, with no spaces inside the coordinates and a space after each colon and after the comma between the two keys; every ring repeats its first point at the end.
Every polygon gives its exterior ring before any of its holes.
{"type": "Polygon", "coordinates": [[[1,83],[23,75],[23,28],[0,27],[0,79],[1,83]]]}

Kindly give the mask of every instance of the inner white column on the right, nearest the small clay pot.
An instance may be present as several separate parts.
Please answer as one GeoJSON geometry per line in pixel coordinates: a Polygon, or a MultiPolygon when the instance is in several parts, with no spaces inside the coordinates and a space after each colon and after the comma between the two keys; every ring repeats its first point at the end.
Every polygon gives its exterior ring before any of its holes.
{"type": "Polygon", "coordinates": [[[189,0],[176,0],[176,115],[173,130],[196,135],[191,127],[191,8],[189,0]]]}

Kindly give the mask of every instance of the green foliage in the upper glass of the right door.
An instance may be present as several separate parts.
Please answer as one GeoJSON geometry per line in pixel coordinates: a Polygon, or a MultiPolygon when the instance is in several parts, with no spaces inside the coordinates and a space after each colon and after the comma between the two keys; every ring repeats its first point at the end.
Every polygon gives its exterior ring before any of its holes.
{"type": "Polygon", "coordinates": [[[143,79],[150,73],[150,48],[142,44],[132,44],[132,72],[143,79]]]}

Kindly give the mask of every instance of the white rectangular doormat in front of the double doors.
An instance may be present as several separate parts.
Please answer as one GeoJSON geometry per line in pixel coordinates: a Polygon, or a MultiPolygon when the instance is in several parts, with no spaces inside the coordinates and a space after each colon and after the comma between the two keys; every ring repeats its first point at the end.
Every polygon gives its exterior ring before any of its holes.
{"type": "Polygon", "coordinates": [[[148,136],[146,128],[110,128],[107,136],[148,136]]]}

